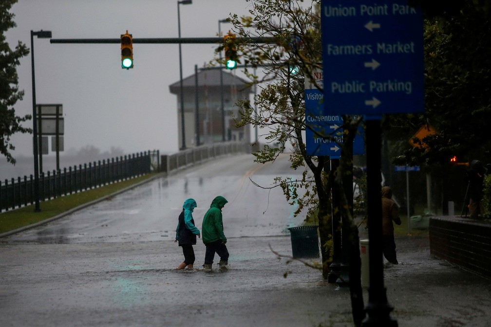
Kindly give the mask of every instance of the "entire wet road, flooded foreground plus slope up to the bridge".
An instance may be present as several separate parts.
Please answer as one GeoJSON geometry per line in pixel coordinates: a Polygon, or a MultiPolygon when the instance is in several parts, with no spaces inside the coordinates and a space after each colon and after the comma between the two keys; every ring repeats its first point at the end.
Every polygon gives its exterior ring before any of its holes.
{"type": "MultiPolygon", "coordinates": [[[[291,174],[288,165],[251,161],[209,162],[0,239],[0,326],[352,326],[346,290],[271,251],[291,254],[286,228],[302,218],[293,218],[280,190],[248,180],[271,184],[291,174]],[[229,270],[200,269],[198,240],[196,269],[176,271],[182,202],[197,201],[200,226],[218,194],[229,200],[229,270]]],[[[400,264],[384,276],[399,326],[491,326],[489,280],[431,257],[427,237],[396,243],[400,264]]]]}

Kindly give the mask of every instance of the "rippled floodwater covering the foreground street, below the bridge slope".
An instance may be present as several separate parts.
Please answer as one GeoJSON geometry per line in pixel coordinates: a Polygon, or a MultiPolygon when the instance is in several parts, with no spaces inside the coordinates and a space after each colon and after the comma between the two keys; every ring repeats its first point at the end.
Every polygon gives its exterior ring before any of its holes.
{"type": "MultiPolygon", "coordinates": [[[[229,239],[227,272],[201,269],[199,242],[193,271],[175,270],[172,241],[1,242],[1,326],[353,326],[348,290],[271,252],[290,255],[288,236],[229,239]]],[[[396,244],[384,282],[400,327],[490,326],[489,280],[432,257],[427,237],[396,244]]]]}

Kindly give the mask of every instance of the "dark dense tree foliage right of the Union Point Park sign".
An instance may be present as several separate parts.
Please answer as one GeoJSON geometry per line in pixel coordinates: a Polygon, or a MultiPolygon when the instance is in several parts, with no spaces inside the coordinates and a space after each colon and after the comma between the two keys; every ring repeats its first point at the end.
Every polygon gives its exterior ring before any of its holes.
{"type": "Polygon", "coordinates": [[[416,140],[422,147],[406,146],[399,159],[441,166],[454,155],[468,160],[489,158],[490,15],[473,1],[464,1],[458,13],[427,19],[424,33],[425,112],[403,119],[392,117],[390,125],[414,132],[429,124],[438,133],[416,140]]]}

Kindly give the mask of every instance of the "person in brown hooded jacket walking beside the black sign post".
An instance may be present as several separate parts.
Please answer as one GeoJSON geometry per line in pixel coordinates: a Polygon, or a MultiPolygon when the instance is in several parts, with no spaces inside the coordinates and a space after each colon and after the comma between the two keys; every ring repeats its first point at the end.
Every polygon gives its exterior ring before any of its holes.
{"type": "Polygon", "coordinates": [[[383,256],[395,265],[398,264],[396,256],[396,243],[394,242],[394,225],[401,225],[399,208],[392,201],[392,190],[388,186],[382,187],[382,234],[383,256]]]}

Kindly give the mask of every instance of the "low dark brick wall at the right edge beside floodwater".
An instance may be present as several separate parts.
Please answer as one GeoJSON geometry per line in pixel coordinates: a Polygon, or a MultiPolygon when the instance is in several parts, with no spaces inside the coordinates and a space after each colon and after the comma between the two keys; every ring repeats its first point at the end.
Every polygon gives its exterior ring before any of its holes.
{"type": "Polygon", "coordinates": [[[432,217],[430,252],[491,278],[491,223],[460,217],[432,217]]]}

